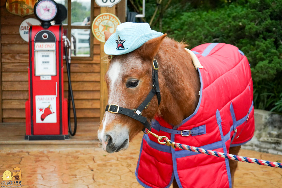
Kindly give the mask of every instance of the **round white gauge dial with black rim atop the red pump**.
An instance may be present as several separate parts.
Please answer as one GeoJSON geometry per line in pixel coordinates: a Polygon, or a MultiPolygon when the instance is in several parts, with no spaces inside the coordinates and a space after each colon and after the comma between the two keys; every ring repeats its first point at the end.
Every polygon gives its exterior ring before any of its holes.
{"type": "Polygon", "coordinates": [[[41,21],[53,21],[58,13],[58,4],[53,0],[39,0],[34,5],[34,14],[41,21]]]}

